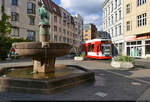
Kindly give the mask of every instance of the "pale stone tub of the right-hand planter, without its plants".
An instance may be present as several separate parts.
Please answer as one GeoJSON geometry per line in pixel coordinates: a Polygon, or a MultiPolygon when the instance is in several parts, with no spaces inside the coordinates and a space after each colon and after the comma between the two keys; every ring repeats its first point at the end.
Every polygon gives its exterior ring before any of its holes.
{"type": "Polygon", "coordinates": [[[134,64],[132,62],[112,61],[111,66],[114,68],[130,69],[134,67],[134,64]]]}

